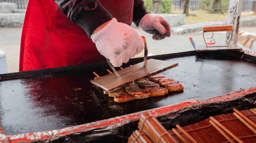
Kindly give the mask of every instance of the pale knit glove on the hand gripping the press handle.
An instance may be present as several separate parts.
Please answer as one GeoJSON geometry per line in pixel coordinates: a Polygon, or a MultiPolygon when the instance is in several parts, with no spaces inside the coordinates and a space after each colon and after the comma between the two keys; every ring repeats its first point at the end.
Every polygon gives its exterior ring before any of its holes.
{"type": "Polygon", "coordinates": [[[127,63],[145,47],[143,39],[131,26],[119,23],[115,18],[92,34],[91,39],[99,53],[109,59],[114,67],[127,63]]]}

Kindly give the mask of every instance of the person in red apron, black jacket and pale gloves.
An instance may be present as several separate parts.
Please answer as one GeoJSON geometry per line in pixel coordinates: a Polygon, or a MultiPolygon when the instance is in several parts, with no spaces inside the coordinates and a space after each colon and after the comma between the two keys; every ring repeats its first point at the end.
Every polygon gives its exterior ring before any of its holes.
{"type": "Polygon", "coordinates": [[[103,62],[119,67],[144,49],[134,22],[154,40],[170,37],[168,22],[143,0],[29,1],[19,71],[103,62]]]}

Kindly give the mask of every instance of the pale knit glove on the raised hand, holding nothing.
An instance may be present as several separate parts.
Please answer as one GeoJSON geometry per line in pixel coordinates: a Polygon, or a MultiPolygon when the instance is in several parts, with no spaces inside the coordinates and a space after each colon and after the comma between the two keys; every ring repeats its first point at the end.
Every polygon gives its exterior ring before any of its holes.
{"type": "Polygon", "coordinates": [[[161,16],[153,16],[150,13],[144,15],[140,22],[139,28],[143,31],[153,34],[154,40],[162,40],[171,36],[170,24],[161,16]]]}

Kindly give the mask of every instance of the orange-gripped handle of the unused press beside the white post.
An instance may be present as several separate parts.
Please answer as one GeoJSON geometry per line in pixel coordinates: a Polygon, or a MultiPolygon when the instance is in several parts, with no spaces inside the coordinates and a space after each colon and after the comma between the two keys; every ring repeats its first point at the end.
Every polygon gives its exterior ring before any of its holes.
{"type": "MultiPolygon", "coordinates": [[[[207,46],[206,41],[205,41],[205,39],[204,39],[204,32],[221,32],[221,31],[231,31],[231,32],[232,32],[232,33],[231,33],[231,37],[232,37],[232,35],[233,35],[233,26],[230,25],[230,26],[211,26],[211,27],[203,27],[203,40],[204,40],[204,42],[205,42],[206,47],[223,47],[223,46],[207,46]]],[[[231,38],[230,38],[228,44],[225,45],[225,46],[228,46],[229,43],[230,43],[230,41],[231,41],[231,38]]]]}

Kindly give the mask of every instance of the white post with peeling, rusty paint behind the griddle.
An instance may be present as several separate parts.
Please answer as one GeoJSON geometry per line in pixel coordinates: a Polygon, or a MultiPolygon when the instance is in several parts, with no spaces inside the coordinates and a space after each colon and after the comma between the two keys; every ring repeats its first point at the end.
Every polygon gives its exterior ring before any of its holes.
{"type": "MultiPolygon", "coordinates": [[[[230,0],[229,2],[227,25],[233,25],[233,35],[230,41],[232,44],[237,44],[242,5],[243,0],[230,0]]],[[[230,36],[231,32],[227,32],[226,44],[229,42],[230,36]]]]}

